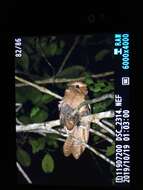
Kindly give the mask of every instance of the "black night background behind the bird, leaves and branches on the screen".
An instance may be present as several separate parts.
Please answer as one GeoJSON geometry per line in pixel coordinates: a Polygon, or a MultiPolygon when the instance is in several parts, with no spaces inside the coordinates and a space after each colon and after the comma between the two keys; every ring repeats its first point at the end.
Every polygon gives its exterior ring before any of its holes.
{"type": "MultiPolygon", "coordinates": [[[[62,40],[67,42],[67,48],[71,46],[73,43],[73,39],[76,35],[62,35],[57,38],[62,38],[62,40]]],[[[107,71],[114,71],[114,61],[112,57],[113,52],[113,34],[111,33],[96,33],[93,35],[85,45],[82,45],[83,41],[77,45],[75,50],[72,53],[72,56],[68,60],[65,67],[70,67],[73,65],[81,65],[85,67],[87,72],[92,74],[104,73],[107,71]],[[104,49],[108,49],[109,52],[103,55],[103,58],[99,61],[95,60],[95,55],[97,52],[100,52],[104,49]]],[[[26,40],[22,38],[23,44],[26,40]]],[[[82,38],[81,38],[82,39],[82,38]]],[[[24,44],[25,45],[25,44],[24,44]]],[[[23,45],[23,46],[24,46],[23,45]]],[[[62,56],[65,56],[65,52],[63,52],[62,56]]],[[[50,60],[50,59],[49,59],[50,60]]],[[[56,60],[56,58],[51,58],[53,61],[53,66],[55,71],[58,70],[59,60],[62,60],[60,57],[56,60]]],[[[44,62],[44,61],[43,61],[44,62]]],[[[42,65],[43,67],[43,65],[42,65]]],[[[44,71],[48,74],[51,74],[51,70],[45,64],[44,71]]],[[[78,76],[77,76],[78,77],[78,76]]],[[[110,77],[106,77],[108,80],[110,77]]],[[[95,80],[96,81],[96,80],[95,80]]],[[[54,85],[48,85],[48,88],[54,89],[54,91],[61,96],[63,96],[63,89],[55,88],[54,85]]],[[[89,96],[92,94],[90,94],[89,96]]],[[[57,108],[57,100],[54,100],[52,103],[48,104],[49,110],[52,110],[54,114],[49,114],[48,120],[57,119],[58,118],[58,108],[57,108]]],[[[110,108],[109,108],[110,109],[110,108]]],[[[51,112],[50,112],[51,113],[51,112]]],[[[29,135],[30,136],[30,135],[29,135]]],[[[36,137],[36,135],[31,135],[36,137]]],[[[37,135],[38,136],[38,135],[37,135]]],[[[91,138],[91,137],[90,137],[91,138]]],[[[90,144],[91,139],[89,140],[90,144]]],[[[91,141],[92,143],[92,141],[91,141]]],[[[98,148],[102,148],[110,143],[99,143],[97,145],[98,148]]],[[[41,169],[41,159],[44,156],[45,151],[41,151],[38,154],[32,155],[32,164],[29,168],[24,167],[24,170],[28,174],[28,176],[32,179],[33,184],[47,184],[47,185],[73,185],[73,186],[93,186],[93,185],[111,185],[113,180],[113,175],[111,173],[110,164],[106,163],[104,160],[90,153],[90,151],[86,150],[79,160],[75,160],[73,157],[64,157],[62,153],[63,143],[59,143],[59,149],[55,151],[51,151],[50,154],[53,156],[55,161],[55,168],[53,173],[45,174],[41,169]]],[[[95,145],[96,148],[96,145],[95,145]]],[[[24,149],[27,152],[31,152],[31,147],[29,145],[24,145],[24,149]]],[[[114,156],[111,158],[114,159],[114,156]]],[[[18,172],[18,183],[27,183],[22,175],[18,172]]]]}

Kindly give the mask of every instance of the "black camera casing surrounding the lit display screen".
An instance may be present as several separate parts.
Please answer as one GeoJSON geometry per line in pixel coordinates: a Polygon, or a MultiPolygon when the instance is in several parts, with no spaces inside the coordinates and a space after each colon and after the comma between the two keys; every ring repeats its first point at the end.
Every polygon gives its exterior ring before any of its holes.
{"type": "MultiPolygon", "coordinates": [[[[52,1],[53,2],[53,1],[52,1]]],[[[53,2],[54,3],[54,2],[53,2]]],[[[61,4],[61,2],[59,2],[61,4]]],[[[97,2],[96,2],[97,3],[97,2]]],[[[49,4],[49,2],[48,2],[49,4]]],[[[83,9],[79,11],[79,7],[77,6],[77,4],[73,4],[74,10],[76,8],[76,12],[73,15],[73,7],[71,8],[71,6],[67,6],[64,10],[66,11],[61,11],[61,7],[60,6],[51,6],[51,9],[48,8],[47,11],[47,7],[46,5],[43,5],[42,3],[40,4],[41,7],[39,9],[39,4],[36,7],[35,2],[31,2],[31,6],[30,6],[30,2],[27,5],[25,2],[21,3],[18,2],[16,3],[16,1],[11,1],[9,2],[8,5],[6,5],[6,7],[8,6],[8,22],[7,22],[7,14],[5,12],[5,10],[1,11],[1,29],[4,34],[4,38],[2,40],[3,42],[3,47],[6,49],[6,53],[4,54],[3,57],[3,61],[5,62],[5,57],[7,57],[7,42],[8,42],[8,46],[10,46],[10,49],[8,48],[8,54],[10,54],[10,56],[8,56],[9,58],[9,63],[8,64],[8,85],[5,85],[6,88],[7,86],[9,86],[9,82],[11,83],[13,81],[13,86],[14,86],[14,77],[12,75],[10,75],[13,69],[13,44],[10,43],[10,36],[12,36],[14,33],[17,34],[21,34],[21,33],[35,33],[37,34],[38,31],[39,33],[49,33],[50,31],[73,31],[73,30],[78,30],[78,31],[133,31],[134,32],[134,38],[133,38],[133,50],[132,54],[133,54],[133,59],[132,59],[132,94],[131,94],[131,110],[132,110],[132,144],[133,144],[133,149],[132,149],[132,181],[134,183],[134,185],[136,184],[138,189],[142,189],[142,154],[141,154],[141,138],[142,138],[142,127],[141,127],[141,123],[142,123],[142,117],[141,114],[142,112],[140,111],[141,108],[141,102],[140,100],[142,99],[142,93],[141,91],[137,91],[137,89],[140,90],[140,81],[141,81],[141,76],[142,76],[142,59],[140,59],[140,57],[142,57],[142,47],[141,47],[141,39],[142,39],[142,30],[141,30],[141,24],[142,23],[142,6],[140,6],[141,3],[137,2],[118,2],[118,6],[114,3],[109,3],[107,2],[106,4],[103,4],[103,2],[101,2],[101,5],[98,6],[95,3],[93,3],[93,5],[91,5],[89,2],[85,3],[86,6],[83,7],[83,9]],[[108,5],[108,6],[107,6],[108,5]],[[123,6],[124,5],[124,6],[123,6]],[[45,7],[45,9],[44,9],[45,7]],[[60,8],[59,8],[60,7],[60,8]],[[57,11],[58,14],[53,15],[53,10],[57,11]],[[41,11],[40,11],[41,10],[41,11]],[[94,12],[95,11],[95,12],[94,12]],[[81,13],[82,12],[82,13],[81,13]],[[97,17],[97,20],[95,21],[94,24],[89,25],[88,23],[88,19],[87,16],[90,13],[96,13],[98,14],[97,16],[100,15],[100,13],[104,14],[104,19],[100,19],[100,16],[97,17]],[[26,14],[25,14],[26,13],[26,14]],[[38,14],[37,14],[38,13],[38,14]],[[52,15],[52,16],[51,16],[52,15]],[[67,19],[65,19],[65,15],[67,15],[67,19]],[[116,15],[116,16],[115,16],[116,15]],[[54,22],[53,22],[54,21],[54,22]],[[72,22],[71,22],[72,21],[72,22]],[[75,23],[76,22],[76,23],[75,23]],[[48,26],[45,26],[45,23],[48,23],[48,26]],[[63,24],[63,25],[62,25],[63,24]],[[68,25],[68,27],[67,27],[68,25]],[[57,27],[58,26],[58,27],[57,27]],[[61,27],[62,26],[62,27],[61,27]],[[73,27],[74,26],[74,27],[73,27]],[[76,27],[75,27],[76,26],[76,27]],[[82,26],[82,27],[81,27],[82,26]],[[8,31],[5,32],[5,27],[8,27],[8,31]],[[76,28],[76,29],[75,29],[76,28]],[[25,32],[22,32],[25,31],[25,32]],[[31,32],[30,32],[31,31],[31,32]],[[8,35],[7,35],[8,34],[8,35]],[[10,34],[10,35],[9,35],[10,34]],[[8,41],[9,40],[9,41],[8,41]],[[6,42],[6,43],[5,43],[6,42]],[[137,51],[136,51],[137,50],[137,51]],[[138,69],[137,69],[138,68],[138,69]],[[136,70],[137,69],[137,70],[136,70]],[[137,80],[138,79],[138,80],[137,80]],[[137,82],[139,81],[139,83],[137,82]],[[138,88],[137,88],[138,87],[138,88]],[[139,98],[140,97],[140,98],[139,98]],[[137,110],[139,110],[139,112],[137,112],[137,110]],[[140,127],[139,127],[140,126],[140,127]],[[140,138],[139,138],[140,137],[140,138]]],[[[49,5],[48,5],[49,7],[49,5]]],[[[55,11],[55,12],[56,12],[55,11]]],[[[5,64],[6,65],[6,64],[5,64]]],[[[3,65],[3,70],[4,70],[4,66],[3,65]]],[[[6,73],[7,73],[7,68],[6,68],[6,73]]],[[[3,78],[3,75],[2,75],[3,78]]],[[[5,83],[4,83],[5,84],[5,83]]],[[[5,87],[3,85],[3,87],[5,87]]],[[[12,87],[12,85],[11,85],[12,87]]],[[[8,88],[8,96],[9,94],[14,94],[14,90],[13,88],[9,87],[8,88]]],[[[7,89],[6,89],[7,90],[7,89]]],[[[5,93],[3,94],[3,98],[6,98],[5,93]]],[[[8,98],[9,102],[8,102],[8,109],[6,109],[6,114],[7,114],[7,110],[9,113],[9,116],[11,115],[11,119],[10,119],[10,123],[9,125],[11,125],[11,121],[13,121],[13,124],[15,123],[14,121],[14,112],[13,110],[15,109],[15,107],[12,107],[11,102],[14,102],[14,96],[13,98],[9,97],[8,98]],[[13,113],[13,114],[11,114],[13,113]]],[[[6,98],[7,101],[7,98],[6,98]]],[[[4,108],[5,108],[5,102],[4,102],[4,108]]],[[[5,118],[4,118],[5,119],[5,118]]],[[[5,122],[5,120],[4,120],[5,122]]],[[[9,134],[8,136],[8,155],[7,155],[7,149],[5,148],[5,146],[1,146],[2,150],[1,152],[5,152],[5,155],[8,156],[8,161],[9,161],[9,172],[7,172],[5,165],[4,165],[4,170],[2,175],[5,176],[6,180],[4,180],[7,184],[7,176],[9,177],[9,181],[11,181],[12,183],[15,182],[15,178],[13,175],[13,171],[16,170],[15,167],[15,159],[13,159],[12,162],[12,155],[13,157],[15,157],[15,130],[14,130],[15,124],[13,125],[13,127],[11,127],[10,129],[8,128],[8,132],[7,134],[9,134]],[[14,135],[11,135],[14,134],[14,135]],[[13,138],[14,137],[14,138],[13,138]],[[12,149],[12,142],[13,142],[13,149],[12,149]],[[11,164],[12,163],[12,164],[11,164]],[[6,171],[5,171],[6,170],[6,171]]],[[[1,138],[2,143],[3,143],[3,138],[1,138]]],[[[7,161],[7,158],[5,159],[5,157],[2,157],[3,161],[7,161]]],[[[32,162],[34,164],[34,161],[32,162]]],[[[7,164],[7,163],[6,163],[7,164]]],[[[37,164],[36,164],[37,166],[37,164]]],[[[34,170],[35,166],[33,167],[34,170]]],[[[24,168],[25,169],[25,168],[24,168]]],[[[30,169],[30,168],[29,168],[30,169]]],[[[26,170],[27,171],[27,170],[26,170]]],[[[38,171],[39,173],[41,172],[41,170],[38,171]]],[[[33,173],[33,172],[32,172],[33,173]]],[[[42,172],[41,172],[42,173],[42,172]]],[[[29,174],[29,173],[28,173],[29,174]]],[[[30,175],[30,174],[29,174],[30,175]]],[[[42,175],[42,174],[41,174],[42,175]]],[[[95,173],[94,173],[95,175],[95,173]]],[[[23,179],[23,177],[21,177],[21,175],[18,173],[18,179],[19,182],[21,183],[25,183],[25,180],[23,179]]],[[[34,176],[32,176],[34,177],[34,176]]],[[[3,180],[2,180],[3,181],[3,180]]],[[[103,183],[102,183],[103,184],[103,183]]],[[[135,187],[135,186],[134,186],[135,187]]]]}

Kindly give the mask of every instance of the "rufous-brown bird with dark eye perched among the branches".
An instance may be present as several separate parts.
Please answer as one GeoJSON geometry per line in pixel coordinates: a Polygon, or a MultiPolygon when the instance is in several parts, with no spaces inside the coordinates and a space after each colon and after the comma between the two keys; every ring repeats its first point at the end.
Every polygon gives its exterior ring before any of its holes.
{"type": "Polygon", "coordinates": [[[82,142],[87,143],[89,139],[90,122],[81,121],[81,117],[90,114],[90,107],[84,105],[74,115],[73,111],[86,100],[87,93],[87,86],[83,82],[69,83],[63,100],[59,103],[60,123],[69,134],[63,152],[65,156],[72,154],[75,159],[78,159],[85,150],[82,142]]]}

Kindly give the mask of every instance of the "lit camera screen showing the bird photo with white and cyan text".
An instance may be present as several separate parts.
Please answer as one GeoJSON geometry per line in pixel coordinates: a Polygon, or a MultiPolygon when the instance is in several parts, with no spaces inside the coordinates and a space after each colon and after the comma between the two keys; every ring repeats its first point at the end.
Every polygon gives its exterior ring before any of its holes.
{"type": "Polygon", "coordinates": [[[18,184],[130,184],[130,33],[15,36],[18,184]]]}

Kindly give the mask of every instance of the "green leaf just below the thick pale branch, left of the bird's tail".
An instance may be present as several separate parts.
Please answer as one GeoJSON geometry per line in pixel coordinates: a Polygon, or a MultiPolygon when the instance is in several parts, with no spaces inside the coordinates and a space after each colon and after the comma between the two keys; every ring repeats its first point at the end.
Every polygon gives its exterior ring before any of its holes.
{"type": "Polygon", "coordinates": [[[32,153],[35,154],[45,148],[45,138],[40,137],[38,139],[29,139],[29,144],[32,146],[32,153]]]}

